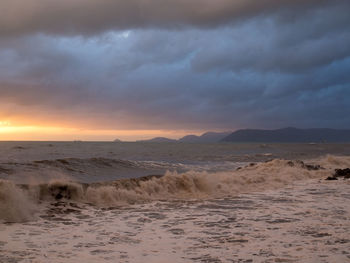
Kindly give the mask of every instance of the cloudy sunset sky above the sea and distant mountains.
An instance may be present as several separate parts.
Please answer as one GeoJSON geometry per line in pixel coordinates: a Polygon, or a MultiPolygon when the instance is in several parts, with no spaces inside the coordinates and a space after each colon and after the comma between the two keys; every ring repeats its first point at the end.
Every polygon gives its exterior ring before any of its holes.
{"type": "Polygon", "coordinates": [[[349,0],[1,0],[0,140],[350,128],[349,0]]]}

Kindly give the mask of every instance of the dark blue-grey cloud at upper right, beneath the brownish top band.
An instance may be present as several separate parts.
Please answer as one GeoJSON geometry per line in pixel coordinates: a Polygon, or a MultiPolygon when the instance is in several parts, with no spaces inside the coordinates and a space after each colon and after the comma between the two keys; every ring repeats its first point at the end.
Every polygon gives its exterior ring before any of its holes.
{"type": "Polygon", "coordinates": [[[345,59],[350,54],[350,4],[342,7],[310,11],[309,16],[288,24],[267,17],[259,23],[246,23],[241,30],[217,31],[214,39],[204,42],[192,66],[200,72],[254,69],[305,73],[345,59]]]}

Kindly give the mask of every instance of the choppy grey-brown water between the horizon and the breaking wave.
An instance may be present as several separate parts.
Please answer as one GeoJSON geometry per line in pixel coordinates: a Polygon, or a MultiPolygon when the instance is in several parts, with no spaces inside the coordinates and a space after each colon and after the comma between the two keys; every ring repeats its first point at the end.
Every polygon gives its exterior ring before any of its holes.
{"type": "Polygon", "coordinates": [[[166,171],[232,171],[250,162],[327,154],[349,155],[350,144],[0,142],[0,178],[21,183],[64,176],[90,183],[166,171]]]}

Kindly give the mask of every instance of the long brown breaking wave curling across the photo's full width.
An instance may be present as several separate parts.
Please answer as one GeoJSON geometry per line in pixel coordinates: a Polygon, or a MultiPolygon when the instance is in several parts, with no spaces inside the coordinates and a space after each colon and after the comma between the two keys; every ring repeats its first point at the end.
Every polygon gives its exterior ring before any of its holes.
{"type": "Polygon", "coordinates": [[[44,184],[15,185],[0,181],[0,220],[32,218],[40,203],[83,202],[97,206],[118,206],[153,200],[223,198],[240,193],[283,187],[297,180],[325,178],[336,168],[350,167],[350,157],[326,156],[306,164],[275,159],[250,164],[234,171],[207,173],[166,172],[113,182],[83,184],[54,180],[44,184]]]}

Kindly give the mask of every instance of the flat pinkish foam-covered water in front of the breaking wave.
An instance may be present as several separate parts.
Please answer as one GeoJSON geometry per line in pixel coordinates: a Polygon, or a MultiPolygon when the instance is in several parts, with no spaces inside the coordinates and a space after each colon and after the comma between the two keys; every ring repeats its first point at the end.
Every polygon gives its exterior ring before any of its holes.
{"type": "Polygon", "coordinates": [[[38,217],[0,225],[0,262],[350,262],[350,180],[38,217]]]}

